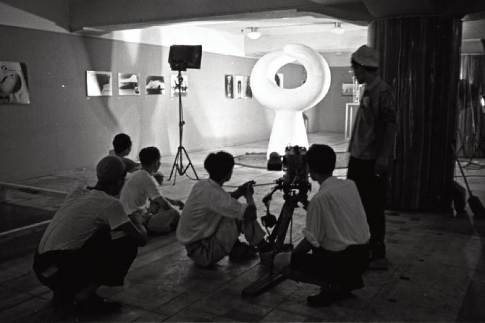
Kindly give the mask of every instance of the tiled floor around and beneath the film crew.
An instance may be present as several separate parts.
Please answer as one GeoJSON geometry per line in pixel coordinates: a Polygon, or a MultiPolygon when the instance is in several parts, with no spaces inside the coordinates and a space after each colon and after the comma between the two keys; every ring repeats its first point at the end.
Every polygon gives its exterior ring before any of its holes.
{"type": "MultiPolygon", "coordinates": [[[[321,142],[344,151],[341,134],[309,135],[310,143],[321,142]]],[[[266,142],[226,147],[241,155],[264,152],[266,142]]],[[[206,177],[202,167],[207,151],[190,153],[199,177],[206,177]]],[[[177,177],[176,185],[168,181],[174,156],[162,158],[165,174],[163,193],[171,198],[186,199],[194,181],[177,177]]],[[[466,170],[475,195],[485,202],[484,169],[466,170]]],[[[345,169],[336,171],[344,175],[345,169]]],[[[193,175],[189,171],[189,175],[193,175]]],[[[281,176],[236,166],[229,185],[254,179],[268,184],[281,176]]],[[[93,184],[94,168],[45,176],[21,184],[68,190],[74,181],[93,184]]],[[[458,179],[460,182],[461,179],[458,179]]],[[[313,183],[314,193],[318,184],[313,183]]],[[[259,215],[263,215],[261,198],[271,185],[255,187],[259,215]]],[[[227,188],[231,190],[230,187],[227,188]]],[[[311,196],[311,194],[310,194],[311,196]]],[[[55,210],[59,200],[32,198],[24,193],[11,197],[18,204],[55,210]]],[[[272,213],[278,214],[281,194],[275,194],[272,213]]],[[[471,212],[469,211],[471,214],[471,212]]],[[[297,209],[293,221],[293,242],[301,238],[305,213],[297,209]]],[[[388,271],[368,271],[365,287],[354,291],[355,297],[328,308],[309,308],[308,294],[316,286],[283,281],[255,297],[242,298],[241,291],[264,274],[257,258],[236,263],[225,259],[213,269],[195,267],[176,241],[174,233],[152,237],[139,249],[122,288],[101,288],[100,294],[123,303],[121,312],[105,316],[78,316],[71,321],[96,322],[452,322],[485,321],[485,221],[471,216],[456,218],[451,214],[410,212],[387,213],[388,271]]],[[[20,240],[21,241],[21,240],[20,240]]],[[[1,251],[0,246],[0,251],[1,251]]],[[[55,319],[51,307],[52,293],[40,285],[31,271],[32,252],[0,264],[0,322],[50,322],[55,319]]]]}

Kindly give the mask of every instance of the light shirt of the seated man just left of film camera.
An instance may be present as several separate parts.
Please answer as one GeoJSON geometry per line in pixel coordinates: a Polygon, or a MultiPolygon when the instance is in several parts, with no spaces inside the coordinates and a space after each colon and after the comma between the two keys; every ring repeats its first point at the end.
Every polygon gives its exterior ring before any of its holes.
{"type": "Polygon", "coordinates": [[[242,219],[247,204],[240,203],[210,178],[195,183],[182,210],[177,239],[182,245],[210,237],[223,216],[242,219]]]}

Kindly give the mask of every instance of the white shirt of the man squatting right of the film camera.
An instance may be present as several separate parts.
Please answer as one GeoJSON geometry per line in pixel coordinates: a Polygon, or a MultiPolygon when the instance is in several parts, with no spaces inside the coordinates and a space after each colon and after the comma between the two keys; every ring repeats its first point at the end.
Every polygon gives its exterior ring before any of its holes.
{"type": "Polygon", "coordinates": [[[369,225],[354,181],[333,176],[323,181],[308,204],[303,234],[312,246],[330,251],[368,242],[369,225]]]}

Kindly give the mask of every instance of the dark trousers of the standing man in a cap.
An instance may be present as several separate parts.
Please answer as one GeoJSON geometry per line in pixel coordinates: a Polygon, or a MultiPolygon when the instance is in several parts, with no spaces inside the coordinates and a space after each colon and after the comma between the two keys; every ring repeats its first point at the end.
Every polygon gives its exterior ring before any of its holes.
{"type": "Polygon", "coordinates": [[[376,258],[386,254],[384,236],[386,234],[386,218],[384,209],[387,198],[387,174],[375,176],[375,160],[350,157],[347,178],[356,183],[360,199],[367,215],[367,223],[371,231],[370,247],[376,258]]]}

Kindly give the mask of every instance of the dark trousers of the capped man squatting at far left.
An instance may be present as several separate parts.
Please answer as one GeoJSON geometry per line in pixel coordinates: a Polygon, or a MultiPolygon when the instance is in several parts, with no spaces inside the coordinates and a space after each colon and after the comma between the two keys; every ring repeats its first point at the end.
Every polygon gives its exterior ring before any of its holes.
{"type": "Polygon", "coordinates": [[[130,237],[112,240],[109,228],[103,227],[80,249],[36,252],[33,270],[42,284],[65,297],[73,297],[92,283],[123,285],[137,252],[130,237]]]}

